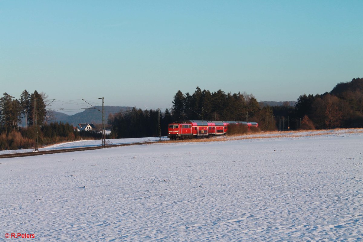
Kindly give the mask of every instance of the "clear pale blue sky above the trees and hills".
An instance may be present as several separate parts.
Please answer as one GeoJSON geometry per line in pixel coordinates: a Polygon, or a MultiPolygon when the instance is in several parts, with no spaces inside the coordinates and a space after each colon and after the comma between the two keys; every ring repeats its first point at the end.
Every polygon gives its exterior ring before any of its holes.
{"type": "Polygon", "coordinates": [[[0,92],[166,108],[295,101],[363,77],[363,1],[1,1],[0,92]]]}

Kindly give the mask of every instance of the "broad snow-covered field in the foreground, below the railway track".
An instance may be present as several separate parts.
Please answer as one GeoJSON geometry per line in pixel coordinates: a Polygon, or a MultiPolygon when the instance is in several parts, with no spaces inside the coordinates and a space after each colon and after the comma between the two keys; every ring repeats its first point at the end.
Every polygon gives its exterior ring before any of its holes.
{"type": "Polygon", "coordinates": [[[362,130],[321,132],[1,159],[0,240],[363,241],[362,130]]]}

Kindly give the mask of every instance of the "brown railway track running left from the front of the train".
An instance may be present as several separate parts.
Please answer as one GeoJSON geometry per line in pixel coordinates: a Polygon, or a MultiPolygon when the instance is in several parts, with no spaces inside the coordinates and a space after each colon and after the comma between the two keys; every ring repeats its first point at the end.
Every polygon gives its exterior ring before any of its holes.
{"type": "Polygon", "coordinates": [[[114,144],[114,145],[106,145],[105,147],[95,146],[95,147],[81,147],[81,148],[70,148],[70,149],[54,149],[54,150],[48,150],[48,151],[33,151],[33,152],[11,153],[11,154],[0,155],[0,159],[2,159],[2,158],[13,158],[13,157],[24,157],[24,156],[48,155],[48,154],[66,153],[66,152],[74,152],[74,151],[87,151],[87,150],[92,150],[92,149],[105,149],[105,148],[130,146],[130,145],[155,144],[155,143],[159,143],[159,141],[148,141],[148,142],[139,142],[139,143],[127,143],[127,144],[114,144]]]}

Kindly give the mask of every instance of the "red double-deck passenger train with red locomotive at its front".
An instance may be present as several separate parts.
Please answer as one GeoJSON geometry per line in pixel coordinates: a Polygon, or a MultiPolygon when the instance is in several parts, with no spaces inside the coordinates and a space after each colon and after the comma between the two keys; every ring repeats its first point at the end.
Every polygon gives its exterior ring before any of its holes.
{"type": "Polygon", "coordinates": [[[225,135],[228,132],[228,126],[231,124],[246,126],[248,130],[258,128],[256,122],[187,120],[170,123],[168,125],[168,138],[179,140],[225,135]]]}

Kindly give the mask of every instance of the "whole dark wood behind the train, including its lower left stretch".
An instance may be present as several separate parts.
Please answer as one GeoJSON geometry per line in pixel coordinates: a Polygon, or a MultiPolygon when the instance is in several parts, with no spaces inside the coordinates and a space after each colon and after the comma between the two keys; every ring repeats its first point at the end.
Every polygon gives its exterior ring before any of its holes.
{"type": "MultiPolygon", "coordinates": [[[[260,108],[256,98],[246,93],[225,93],[218,90],[196,91],[190,95],[180,90],[175,94],[171,111],[160,112],[161,135],[167,136],[168,124],[185,120],[227,120],[255,121],[262,130],[274,130],[276,122],[271,107],[260,108]],[[203,108],[203,110],[202,110],[203,108]]],[[[132,108],[125,112],[110,115],[108,124],[112,127],[113,138],[152,137],[159,135],[158,110],[132,108]]]]}

